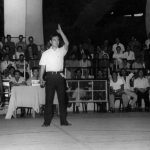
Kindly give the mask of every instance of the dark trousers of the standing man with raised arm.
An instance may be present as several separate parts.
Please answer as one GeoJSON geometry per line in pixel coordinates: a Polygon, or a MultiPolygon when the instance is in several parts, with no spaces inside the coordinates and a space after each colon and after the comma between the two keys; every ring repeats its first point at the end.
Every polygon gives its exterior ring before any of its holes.
{"type": "Polygon", "coordinates": [[[60,123],[66,121],[67,107],[65,99],[65,79],[60,73],[46,73],[46,102],[44,111],[44,123],[50,124],[53,117],[53,100],[55,91],[59,102],[60,123]]]}

